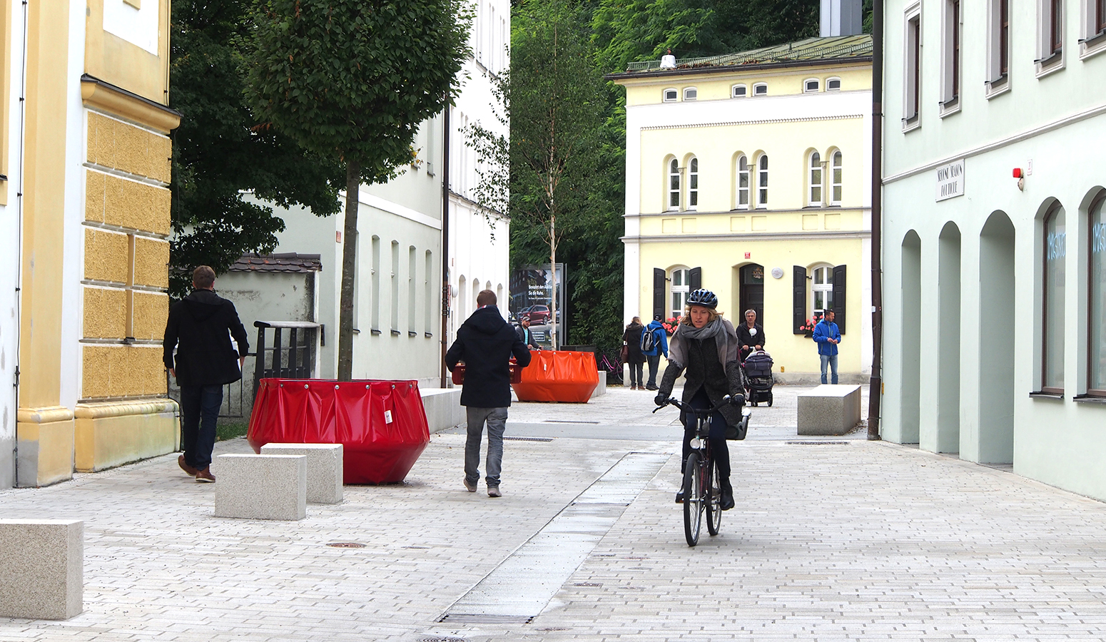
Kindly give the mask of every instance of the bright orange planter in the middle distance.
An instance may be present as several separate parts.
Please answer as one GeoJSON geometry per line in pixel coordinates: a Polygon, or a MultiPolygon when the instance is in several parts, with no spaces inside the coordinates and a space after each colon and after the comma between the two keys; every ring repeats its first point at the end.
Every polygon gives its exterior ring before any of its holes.
{"type": "Polygon", "coordinates": [[[519,401],[587,403],[599,385],[599,371],[592,352],[535,350],[522,378],[512,383],[519,401]]]}

